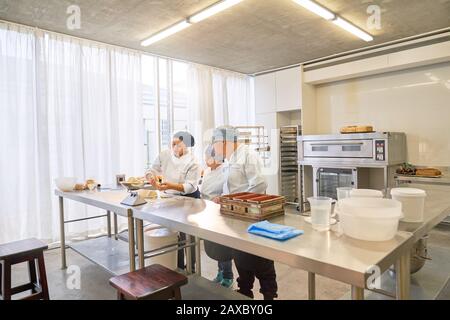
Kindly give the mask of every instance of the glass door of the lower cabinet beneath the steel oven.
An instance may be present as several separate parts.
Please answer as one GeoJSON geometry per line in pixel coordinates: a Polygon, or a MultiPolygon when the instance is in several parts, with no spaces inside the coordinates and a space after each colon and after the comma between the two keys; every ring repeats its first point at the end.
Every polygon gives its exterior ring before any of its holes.
{"type": "Polygon", "coordinates": [[[354,187],[355,169],[319,168],[317,171],[317,188],[320,197],[337,199],[336,188],[354,187]]]}

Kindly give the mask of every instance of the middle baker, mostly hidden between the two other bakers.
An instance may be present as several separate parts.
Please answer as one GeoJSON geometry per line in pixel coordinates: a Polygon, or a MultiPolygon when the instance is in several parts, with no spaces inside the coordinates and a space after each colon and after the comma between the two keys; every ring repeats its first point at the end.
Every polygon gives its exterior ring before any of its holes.
{"type": "MultiPolygon", "coordinates": [[[[202,199],[213,200],[221,196],[225,182],[223,172],[223,158],[217,159],[214,148],[209,145],[205,150],[205,162],[207,168],[203,171],[200,193],[202,199]]],[[[220,244],[204,240],[205,252],[217,261],[217,275],[213,282],[220,283],[223,287],[230,288],[233,285],[233,251],[220,244]]]]}

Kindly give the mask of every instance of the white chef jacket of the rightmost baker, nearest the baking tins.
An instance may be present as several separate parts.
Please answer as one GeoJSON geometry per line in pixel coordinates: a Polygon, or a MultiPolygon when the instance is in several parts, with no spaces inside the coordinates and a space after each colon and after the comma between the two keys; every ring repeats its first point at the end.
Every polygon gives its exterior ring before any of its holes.
{"type": "Polygon", "coordinates": [[[261,159],[248,145],[241,144],[223,167],[224,195],[238,192],[266,193],[267,182],[262,174],[261,159]]]}

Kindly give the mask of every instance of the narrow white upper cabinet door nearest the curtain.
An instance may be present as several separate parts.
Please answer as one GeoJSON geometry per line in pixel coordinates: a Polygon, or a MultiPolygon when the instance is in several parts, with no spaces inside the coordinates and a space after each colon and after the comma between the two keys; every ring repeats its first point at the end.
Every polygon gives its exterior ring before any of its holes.
{"type": "Polygon", "coordinates": [[[256,114],[276,112],[275,73],[255,77],[256,114]]]}

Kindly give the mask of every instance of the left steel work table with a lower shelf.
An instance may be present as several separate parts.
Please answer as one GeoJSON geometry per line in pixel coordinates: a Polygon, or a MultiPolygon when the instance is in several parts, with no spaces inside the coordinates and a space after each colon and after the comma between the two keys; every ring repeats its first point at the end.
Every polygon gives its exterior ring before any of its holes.
{"type": "Polygon", "coordinates": [[[111,190],[107,188],[100,189],[99,191],[73,192],[55,190],[55,194],[59,197],[61,267],[63,269],[67,268],[65,225],[68,223],[104,217],[107,219],[107,237],[74,242],[70,244],[69,247],[113,274],[121,274],[128,271],[134,271],[136,269],[134,219],[131,207],[120,204],[120,202],[127,196],[127,192],[125,190],[111,190]],[[64,199],[104,209],[106,210],[106,214],[81,219],[65,220],[64,199]],[[114,214],[114,238],[112,238],[111,234],[111,212],[114,214]],[[119,240],[117,236],[117,215],[128,219],[128,244],[119,240]]]}

